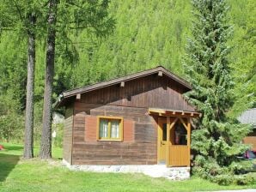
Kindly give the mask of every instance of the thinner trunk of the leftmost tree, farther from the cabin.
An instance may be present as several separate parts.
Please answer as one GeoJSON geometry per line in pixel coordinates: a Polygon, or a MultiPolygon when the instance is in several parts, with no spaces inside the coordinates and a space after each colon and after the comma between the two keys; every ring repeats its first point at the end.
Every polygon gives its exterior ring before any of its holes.
{"type": "MultiPolygon", "coordinates": [[[[31,27],[36,21],[34,13],[29,15],[31,27]]],[[[27,98],[26,98],[26,119],[23,157],[30,159],[34,157],[34,63],[35,63],[35,34],[28,29],[27,49],[27,98]]]]}

